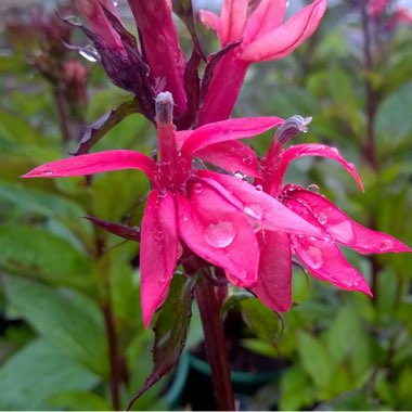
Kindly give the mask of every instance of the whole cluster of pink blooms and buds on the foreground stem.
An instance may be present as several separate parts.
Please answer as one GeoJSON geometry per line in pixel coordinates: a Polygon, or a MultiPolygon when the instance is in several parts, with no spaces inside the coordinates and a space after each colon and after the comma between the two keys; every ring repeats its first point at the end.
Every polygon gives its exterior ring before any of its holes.
{"type": "MultiPolygon", "coordinates": [[[[130,85],[130,76],[136,75],[134,80],[142,82],[140,89],[132,90],[149,90],[145,99],[155,95],[157,160],[139,152],[113,150],[48,163],[24,178],[130,168],[147,176],[152,190],[141,224],[140,252],[146,326],[165,301],[177,265],[188,252],[202,258],[204,265],[223,269],[229,282],[252,289],[278,311],[291,307],[292,255],[297,255],[314,278],[371,295],[368,283],[338,245],[362,254],[410,252],[396,239],[356,223],[321,194],[284,184],[291,162],[322,156],[338,162],[362,189],[353,165],[336,149],[323,144],[285,149],[291,138],[307,130],[311,118],[228,119],[248,66],[282,59],[295,50],[318,27],[326,0],[314,0],[285,23],[285,0],[261,0],[254,2],[254,8],[247,0],[224,0],[220,17],[203,12],[201,18],[217,31],[222,51],[209,70],[211,77],[203,83],[203,99],[186,130],[177,130],[173,124],[191,106],[191,83],[186,81],[191,63],[179,47],[171,1],[129,0],[140,48],[124,31],[111,0],[76,2],[91,27],[87,29],[89,37],[106,63],[111,62],[108,74],[120,86],[130,85]],[[134,74],[121,72],[133,62],[149,67],[145,78],[140,66],[134,67],[134,74]],[[261,159],[239,141],[272,128],[278,130],[261,159]],[[221,172],[206,168],[206,163],[221,172]]],[[[146,113],[151,111],[149,107],[146,113]]]]}

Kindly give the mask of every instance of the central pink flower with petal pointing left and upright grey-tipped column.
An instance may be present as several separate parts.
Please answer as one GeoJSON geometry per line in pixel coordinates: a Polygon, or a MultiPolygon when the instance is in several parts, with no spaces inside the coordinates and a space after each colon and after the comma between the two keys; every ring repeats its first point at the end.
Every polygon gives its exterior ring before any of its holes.
{"type": "Polygon", "coordinates": [[[136,168],[152,182],[141,226],[141,300],[147,327],[164,302],[179,258],[179,244],[224,269],[235,285],[257,283],[255,232],[322,236],[321,231],[270,195],[233,176],[195,170],[193,157],[207,145],[253,137],[280,125],[278,117],[231,119],[193,131],[176,131],[172,98],[156,99],[159,159],[127,150],[75,156],[39,166],[24,178],[86,176],[136,168]],[[178,149],[178,140],[184,142],[178,149]]]}

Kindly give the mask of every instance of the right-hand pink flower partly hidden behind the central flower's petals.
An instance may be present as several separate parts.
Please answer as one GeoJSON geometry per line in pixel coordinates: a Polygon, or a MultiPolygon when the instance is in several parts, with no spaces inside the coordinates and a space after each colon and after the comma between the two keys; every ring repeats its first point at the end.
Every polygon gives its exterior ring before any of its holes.
{"type": "Polygon", "coordinates": [[[255,184],[261,184],[265,192],[323,232],[323,239],[268,230],[257,233],[260,262],[258,283],[252,289],[266,306],[278,311],[287,311],[292,304],[292,253],[299,257],[314,278],[343,289],[360,291],[372,296],[368,283],[349,265],[337,244],[361,254],[411,252],[395,237],[355,222],[323,195],[293,184],[282,186],[291,162],[304,156],[321,156],[340,163],[363,190],[353,165],[347,163],[335,147],[298,144],[283,149],[292,137],[307,131],[310,120],[294,116],[278,128],[275,139],[261,160],[260,178],[255,180],[255,184]]]}

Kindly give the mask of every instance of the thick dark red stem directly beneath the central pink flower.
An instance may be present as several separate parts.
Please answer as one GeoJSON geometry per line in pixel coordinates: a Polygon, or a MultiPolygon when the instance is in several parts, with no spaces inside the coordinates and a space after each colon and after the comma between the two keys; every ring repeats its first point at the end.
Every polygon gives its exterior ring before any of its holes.
{"type": "Polygon", "coordinates": [[[216,287],[205,276],[198,276],[195,296],[202,318],[217,409],[234,411],[228,350],[216,287]]]}

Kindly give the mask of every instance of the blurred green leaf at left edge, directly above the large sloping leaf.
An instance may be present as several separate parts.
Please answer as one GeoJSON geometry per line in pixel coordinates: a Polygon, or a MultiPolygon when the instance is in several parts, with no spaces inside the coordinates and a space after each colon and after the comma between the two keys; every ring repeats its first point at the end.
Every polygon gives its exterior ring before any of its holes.
{"type": "Polygon", "coordinates": [[[86,256],[65,240],[28,226],[0,226],[0,268],[80,288],[92,282],[86,256]]]}

